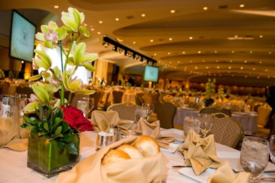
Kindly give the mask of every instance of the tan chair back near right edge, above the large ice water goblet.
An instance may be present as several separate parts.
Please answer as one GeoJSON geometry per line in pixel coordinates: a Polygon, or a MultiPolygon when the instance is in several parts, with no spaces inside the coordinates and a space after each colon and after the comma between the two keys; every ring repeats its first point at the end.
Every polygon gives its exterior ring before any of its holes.
{"type": "Polygon", "coordinates": [[[258,128],[264,128],[270,119],[272,107],[267,103],[258,107],[258,128]]]}

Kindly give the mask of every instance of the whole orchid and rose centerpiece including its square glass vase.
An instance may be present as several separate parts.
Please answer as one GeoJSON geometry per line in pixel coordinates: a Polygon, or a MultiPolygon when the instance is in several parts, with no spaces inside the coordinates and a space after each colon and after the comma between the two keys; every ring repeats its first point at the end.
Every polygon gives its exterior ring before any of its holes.
{"type": "Polygon", "coordinates": [[[81,89],[82,80],[74,76],[78,67],[96,71],[91,61],[96,60],[98,54],[86,54],[85,43],[78,43],[81,36],[89,36],[87,28],[82,25],[84,19],[83,12],[68,8],[68,12],[62,12],[64,25],[61,28],[50,21],[48,25],[41,25],[42,32],[35,36],[43,46],[34,50],[33,63],[36,69],[42,70],[30,80],[43,78],[43,82],[32,85],[34,94],[24,108],[21,127],[30,130],[28,167],[47,177],[71,169],[79,160],[80,132],[94,130],[82,111],[70,105],[73,93],[91,95],[95,92],[81,89]],[[65,39],[70,39],[67,50],[63,47],[65,39]],[[52,58],[43,47],[59,47],[61,69],[52,68],[52,58]],[[55,97],[56,92],[60,92],[60,98],[55,97]],[[68,98],[65,98],[65,92],[69,92],[68,98]]]}

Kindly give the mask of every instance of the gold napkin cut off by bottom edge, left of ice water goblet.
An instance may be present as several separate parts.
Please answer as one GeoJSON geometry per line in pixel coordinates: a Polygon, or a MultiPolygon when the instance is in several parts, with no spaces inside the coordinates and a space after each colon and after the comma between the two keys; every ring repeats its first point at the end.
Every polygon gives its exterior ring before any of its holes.
{"type": "Polygon", "coordinates": [[[248,183],[250,181],[250,173],[239,172],[236,175],[232,171],[232,168],[228,161],[222,162],[217,171],[208,177],[208,183],[248,183]]]}

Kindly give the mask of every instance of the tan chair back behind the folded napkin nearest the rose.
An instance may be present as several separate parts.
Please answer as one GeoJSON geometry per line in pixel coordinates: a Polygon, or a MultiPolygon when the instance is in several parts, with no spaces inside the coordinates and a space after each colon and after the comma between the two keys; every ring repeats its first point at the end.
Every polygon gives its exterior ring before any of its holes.
{"type": "Polygon", "coordinates": [[[140,108],[140,106],[135,105],[131,102],[126,102],[110,105],[107,111],[118,111],[118,116],[120,117],[120,119],[135,121],[135,109],[137,108],[140,108]]]}

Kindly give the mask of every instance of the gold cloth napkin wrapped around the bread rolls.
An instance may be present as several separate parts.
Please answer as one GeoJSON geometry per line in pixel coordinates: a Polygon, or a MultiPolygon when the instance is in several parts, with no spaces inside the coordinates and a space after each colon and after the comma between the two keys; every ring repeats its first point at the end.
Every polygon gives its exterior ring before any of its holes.
{"type": "Polygon", "coordinates": [[[161,152],[142,159],[136,158],[101,164],[102,158],[109,149],[115,149],[121,144],[134,144],[137,138],[139,137],[124,138],[104,147],[76,164],[72,170],[61,173],[55,182],[162,182],[166,177],[165,164],[167,159],[161,152]]]}

